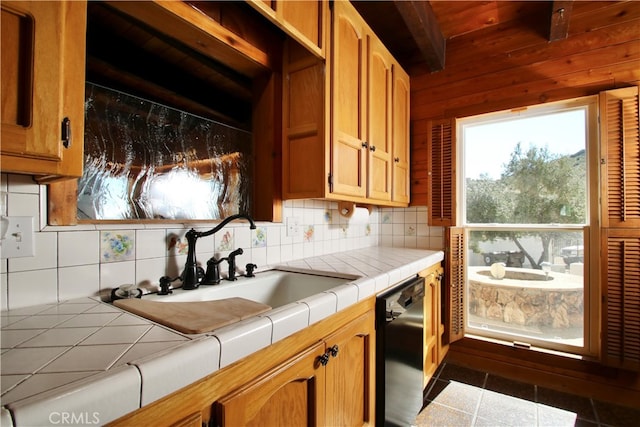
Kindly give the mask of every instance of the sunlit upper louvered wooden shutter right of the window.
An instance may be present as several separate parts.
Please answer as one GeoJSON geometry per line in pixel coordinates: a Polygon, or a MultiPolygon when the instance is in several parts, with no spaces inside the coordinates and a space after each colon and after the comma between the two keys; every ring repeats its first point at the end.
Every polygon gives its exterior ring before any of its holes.
{"type": "Polygon", "coordinates": [[[603,227],[640,227],[638,87],[600,95],[603,227]]]}

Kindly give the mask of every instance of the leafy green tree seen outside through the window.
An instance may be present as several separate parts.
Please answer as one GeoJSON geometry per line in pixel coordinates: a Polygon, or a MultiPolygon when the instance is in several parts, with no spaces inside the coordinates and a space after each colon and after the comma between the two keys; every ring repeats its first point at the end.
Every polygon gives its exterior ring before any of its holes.
{"type": "MultiPolygon", "coordinates": [[[[500,179],[487,175],[467,180],[467,222],[475,224],[581,224],[586,218],[586,159],[584,150],[573,155],[553,154],[547,147],[523,150],[518,143],[503,165],[500,179]]],[[[549,259],[554,232],[488,231],[474,233],[471,248],[480,241],[509,239],[533,268],[549,259]],[[521,244],[537,237],[542,245],[538,259],[521,244]]]]}

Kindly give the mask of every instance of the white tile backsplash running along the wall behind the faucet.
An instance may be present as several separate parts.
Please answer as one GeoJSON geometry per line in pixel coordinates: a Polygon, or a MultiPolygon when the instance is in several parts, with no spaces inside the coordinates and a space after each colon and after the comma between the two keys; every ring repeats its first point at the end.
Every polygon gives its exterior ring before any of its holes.
{"type": "MultiPolygon", "coordinates": [[[[46,212],[46,186],[38,185],[30,176],[2,174],[2,188],[9,215],[34,216],[34,224],[46,224],[46,214],[41,213],[46,212]]],[[[243,248],[237,265],[244,271],[248,262],[263,267],[377,245],[437,250],[443,247],[442,227],[426,225],[424,206],[374,208],[364,223],[352,223],[340,216],[336,202],[293,200],[283,203],[282,217],[282,223],[258,222],[266,236],[265,246],[255,245],[256,232],[244,221],[229,223],[224,233],[198,239],[198,261],[206,268],[207,260],[217,251],[224,256],[243,248]],[[299,220],[297,236],[287,235],[285,224],[289,217],[299,220]]],[[[199,225],[197,229],[206,231],[211,226],[199,225]]],[[[51,303],[94,296],[100,291],[108,294],[113,287],[127,283],[157,285],[161,276],[176,277],[181,273],[189,228],[159,223],[44,226],[36,232],[36,256],[1,261],[0,307],[7,310],[51,303]],[[135,257],[130,261],[103,261],[101,233],[118,230],[130,230],[135,257]]]]}

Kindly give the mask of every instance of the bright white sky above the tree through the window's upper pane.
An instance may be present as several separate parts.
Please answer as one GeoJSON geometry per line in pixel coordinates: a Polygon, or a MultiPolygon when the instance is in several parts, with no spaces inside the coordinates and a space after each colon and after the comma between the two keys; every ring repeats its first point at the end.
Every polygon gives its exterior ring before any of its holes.
{"type": "Polygon", "coordinates": [[[466,177],[481,173],[498,179],[518,142],[523,150],[532,144],[551,153],[574,154],[585,149],[585,110],[577,109],[535,117],[464,126],[466,177]]]}

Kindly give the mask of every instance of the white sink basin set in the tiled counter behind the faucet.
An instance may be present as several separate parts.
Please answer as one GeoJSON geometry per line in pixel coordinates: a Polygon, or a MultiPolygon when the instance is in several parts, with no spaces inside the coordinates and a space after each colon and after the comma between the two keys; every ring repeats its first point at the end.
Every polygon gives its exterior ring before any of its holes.
{"type": "Polygon", "coordinates": [[[174,289],[170,295],[149,294],[143,299],[158,302],[189,302],[241,297],[276,308],[356,279],[358,276],[337,273],[330,275],[330,273],[267,270],[256,273],[255,277],[239,277],[235,282],[222,280],[219,285],[201,285],[194,290],[178,288],[174,289]]]}

